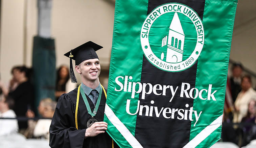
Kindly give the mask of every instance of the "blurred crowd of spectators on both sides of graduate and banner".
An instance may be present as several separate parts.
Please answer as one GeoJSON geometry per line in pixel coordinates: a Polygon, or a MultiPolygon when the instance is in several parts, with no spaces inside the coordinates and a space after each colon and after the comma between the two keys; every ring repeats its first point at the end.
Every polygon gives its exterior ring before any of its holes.
{"type": "MultiPolygon", "coordinates": [[[[56,70],[55,98],[42,98],[38,107],[34,106],[32,70],[15,66],[11,75],[7,86],[0,81],[0,136],[20,132],[26,138],[49,139],[57,100],[77,85],[70,81],[69,68],[61,65],[56,70]]],[[[222,141],[245,146],[256,139],[256,91],[252,86],[252,78],[245,75],[242,65],[233,64],[227,80],[222,141]]]]}

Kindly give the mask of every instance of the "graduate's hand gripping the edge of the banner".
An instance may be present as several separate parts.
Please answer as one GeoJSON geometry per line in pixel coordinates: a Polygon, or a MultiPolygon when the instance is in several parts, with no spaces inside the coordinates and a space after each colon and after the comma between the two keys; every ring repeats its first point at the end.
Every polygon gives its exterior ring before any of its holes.
{"type": "Polygon", "coordinates": [[[85,131],[85,138],[95,137],[101,133],[104,133],[108,128],[108,123],[106,122],[95,122],[91,127],[87,128],[85,131]]]}

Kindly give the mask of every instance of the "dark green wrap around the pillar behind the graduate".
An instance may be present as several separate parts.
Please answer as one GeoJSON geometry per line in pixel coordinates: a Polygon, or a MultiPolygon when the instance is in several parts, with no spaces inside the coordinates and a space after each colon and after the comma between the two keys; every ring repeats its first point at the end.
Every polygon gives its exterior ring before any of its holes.
{"type": "Polygon", "coordinates": [[[54,39],[34,37],[32,68],[34,74],[35,107],[41,99],[55,99],[56,57],[54,39]]]}

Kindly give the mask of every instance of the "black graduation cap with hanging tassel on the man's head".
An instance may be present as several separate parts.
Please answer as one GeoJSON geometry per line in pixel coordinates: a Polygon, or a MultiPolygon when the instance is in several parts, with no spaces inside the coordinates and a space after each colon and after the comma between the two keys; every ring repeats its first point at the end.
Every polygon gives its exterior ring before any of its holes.
{"type": "Polygon", "coordinates": [[[84,60],[96,59],[96,58],[98,59],[98,55],[96,54],[96,51],[101,48],[103,47],[92,41],[88,41],[83,45],[80,45],[75,49],[71,49],[69,52],[64,54],[64,56],[70,58],[69,72],[70,72],[70,79],[72,83],[77,83],[74,70],[73,70],[72,59],[75,60],[75,65],[80,64],[84,60]]]}

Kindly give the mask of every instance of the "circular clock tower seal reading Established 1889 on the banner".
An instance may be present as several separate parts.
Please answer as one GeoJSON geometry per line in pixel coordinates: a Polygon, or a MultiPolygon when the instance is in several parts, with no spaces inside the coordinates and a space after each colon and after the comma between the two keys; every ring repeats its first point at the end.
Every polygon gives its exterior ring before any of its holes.
{"type": "Polygon", "coordinates": [[[180,3],[166,3],[148,14],[140,41],[147,60],[159,69],[177,72],[191,67],[204,46],[198,14],[180,3]]]}

